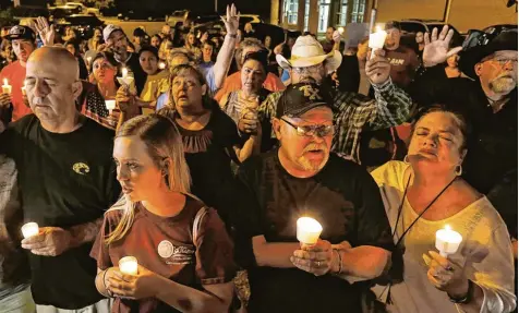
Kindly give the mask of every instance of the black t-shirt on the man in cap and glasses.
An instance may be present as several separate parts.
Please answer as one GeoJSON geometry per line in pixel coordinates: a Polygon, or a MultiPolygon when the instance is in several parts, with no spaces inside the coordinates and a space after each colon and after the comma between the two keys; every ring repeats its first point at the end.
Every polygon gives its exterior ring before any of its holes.
{"type": "MultiPolygon", "coordinates": [[[[251,225],[239,226],[249,237],[263,234],[267,242],[297,242],[295,222],[304,215],[321,222],[321,238],[333,244],[347,240],[352,246],[393,251],[378,188],[364,169],[351,161],[331,154],[316,176],[299,179],[283,169],[278,152],[273,151],[245,161],[238,178],[253,194],[251,205],[242,208],[246,210],[242,214],[249,216],[241,218],[251,225]]],[[[249,269],[249,312],[361,312],[359,287],[343,279],[238,261],[249,269]]]]}

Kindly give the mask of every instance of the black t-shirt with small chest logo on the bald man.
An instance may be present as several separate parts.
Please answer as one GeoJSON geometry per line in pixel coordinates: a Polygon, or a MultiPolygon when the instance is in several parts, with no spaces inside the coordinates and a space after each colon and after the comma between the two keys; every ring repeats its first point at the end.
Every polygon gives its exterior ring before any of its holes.
{"type": "MultiPolygon", "coordinates": [[[[111,159],[113,131],[89,119],[58,134],[26,116],[0,135],[0,149],[16,162],[25,221],[64,229],[94,221],[120,194],[111,159]]],[[[55,257],[28,253],[36,303],[72,310],[102,299],[90,250],[88,243],[55,257]]]]}

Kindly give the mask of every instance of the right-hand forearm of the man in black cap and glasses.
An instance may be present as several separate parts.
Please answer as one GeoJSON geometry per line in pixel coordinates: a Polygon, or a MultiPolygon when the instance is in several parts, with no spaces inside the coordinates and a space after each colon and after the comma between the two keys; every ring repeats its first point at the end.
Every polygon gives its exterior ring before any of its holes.
{"type": "MultiPolygon", "coordinates": [[[[377,246],[361,245],[351,249],[339,249],[341,255],[342,272],[340,277],[354,276],[359,278],[372,279],[378,277],[384,272],[390,257],[390,252],[377,246]]],[[[334,273],[339,272],[339,266],[333,268],[334,273]]]]}

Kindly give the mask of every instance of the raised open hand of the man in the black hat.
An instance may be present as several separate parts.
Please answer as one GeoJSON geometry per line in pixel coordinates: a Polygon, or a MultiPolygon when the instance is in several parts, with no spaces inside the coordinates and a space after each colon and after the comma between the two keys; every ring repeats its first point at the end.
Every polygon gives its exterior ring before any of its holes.
{"type": "Polygon", "coordinates": [[[449,31],[447,25],[444,26],[438,36],[438,28],[434,28],[432,34],[425,33],[423,35],[423,64],[426,68],[447,61],[447,59],[461,51],[462,47],[456,47],[449,50],[449,43],[452,39],[454,29],[449,31]],[[430,36],[431,35],[431,36],[430,36]]]}

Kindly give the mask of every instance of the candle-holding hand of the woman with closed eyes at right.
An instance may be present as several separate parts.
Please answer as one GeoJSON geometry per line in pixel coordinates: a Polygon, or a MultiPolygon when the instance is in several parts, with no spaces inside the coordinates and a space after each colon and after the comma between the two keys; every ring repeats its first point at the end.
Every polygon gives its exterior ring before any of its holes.
{"type": "Polygon", "coordinates": [[[432,257],[427,272],[429,281],[452,298],[467,296],[469,279],[464,275],[464,269],[434,251],[430,251],[429,254],[432,257]]]}

